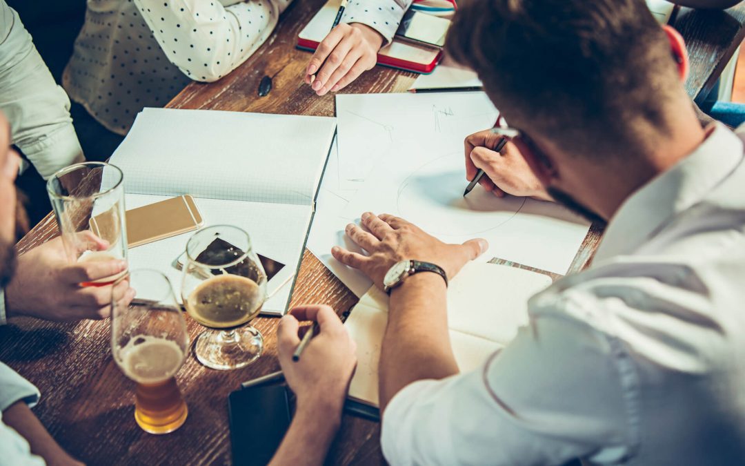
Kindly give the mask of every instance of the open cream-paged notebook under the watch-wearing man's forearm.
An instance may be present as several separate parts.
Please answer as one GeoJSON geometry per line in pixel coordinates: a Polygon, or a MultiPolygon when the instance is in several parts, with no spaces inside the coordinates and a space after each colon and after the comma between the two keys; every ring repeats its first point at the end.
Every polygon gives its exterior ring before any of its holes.
{"type": "MultiPolygon", "coordinates": [[[[469,262],[448,285],[448,327],[458,368],[478,368],[527,324],[527,300],[551,285],[546,274],[484,262],[469,262]],[[485,299],[485,296],[487,297],[485,299]]],[[[357,343],[357,369],[349,398],[378,407],[378,362],[388,322],[388,296],[371,288],[345,325],[357,343]]]]}

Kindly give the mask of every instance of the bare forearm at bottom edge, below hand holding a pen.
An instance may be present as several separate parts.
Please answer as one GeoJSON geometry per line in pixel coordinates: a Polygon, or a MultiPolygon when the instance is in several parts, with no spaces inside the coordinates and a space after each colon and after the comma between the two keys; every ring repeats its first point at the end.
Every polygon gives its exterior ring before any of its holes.
{"type": "Polygon", "coordinates": [[[298,403],[295,417],[282,444],[274,454],[271,466],[322,465],[341,424],[340,402],[322,404],[298,403]]]}

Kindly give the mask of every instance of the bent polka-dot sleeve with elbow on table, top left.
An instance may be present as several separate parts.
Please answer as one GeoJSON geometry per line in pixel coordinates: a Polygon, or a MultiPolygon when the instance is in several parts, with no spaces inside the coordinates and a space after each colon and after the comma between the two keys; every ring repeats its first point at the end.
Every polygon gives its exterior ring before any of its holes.
{"type": "Polygon", "coordinates": [[[223,7],[204,0],[135,0],[171,63],[195,81],[212,82],[267,40],[292,0],[249,0],[223,7]]]}

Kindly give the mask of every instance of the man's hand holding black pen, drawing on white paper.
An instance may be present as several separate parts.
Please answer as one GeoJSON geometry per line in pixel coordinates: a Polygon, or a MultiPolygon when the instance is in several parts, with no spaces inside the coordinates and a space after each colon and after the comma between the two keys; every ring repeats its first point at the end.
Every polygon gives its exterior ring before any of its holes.
{"type": "Polygon", "coordinates": [[[501,152],[489,149],[496,147],[501,137],[490,130],[466,137],[466,180],[473,180],[476,171],[482,169],[486,176],[478,183],[499,198],[510,194],[553,201],[516,145],[507,142],[501,152]]]}

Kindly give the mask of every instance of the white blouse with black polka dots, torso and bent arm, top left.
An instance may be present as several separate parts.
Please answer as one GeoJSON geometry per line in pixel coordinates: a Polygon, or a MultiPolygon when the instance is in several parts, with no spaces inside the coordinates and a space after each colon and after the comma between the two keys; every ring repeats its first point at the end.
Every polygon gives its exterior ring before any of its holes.
{"type": "Polygon", "coordinates": [[[217,81],[269,37],[292,0],[88,0],[63,75],[70,98],[125,134],[143,107],[217,81]]]}

